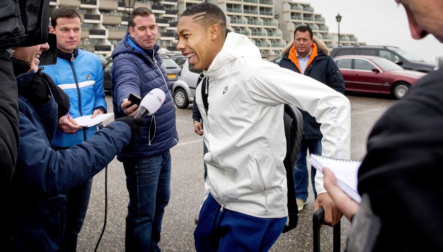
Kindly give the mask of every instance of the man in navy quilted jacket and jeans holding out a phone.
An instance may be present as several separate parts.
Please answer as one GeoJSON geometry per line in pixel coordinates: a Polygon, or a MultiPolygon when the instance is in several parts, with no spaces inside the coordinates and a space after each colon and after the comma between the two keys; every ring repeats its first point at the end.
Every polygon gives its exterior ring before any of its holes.
{"type": "Polygon", "coordinates": [[[171,155],[178,142],[171,86],[155,44],[158,25],[144,7],[129,15],[129,31],[112,53],[112,103],[115,118],[134,116],[140,108],[127,100],[130,93],[145,97],[159,88],[166,97],[160,109],[144,118],[132,147],[117,156],[123,162],[129,192],[126,251],[160,251],[161,221],[169,202],[171,155]]]}

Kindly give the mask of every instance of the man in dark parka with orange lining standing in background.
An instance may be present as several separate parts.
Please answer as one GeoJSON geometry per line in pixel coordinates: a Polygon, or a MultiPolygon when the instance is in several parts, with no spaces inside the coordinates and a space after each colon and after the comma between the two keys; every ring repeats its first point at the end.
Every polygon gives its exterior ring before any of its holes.
{"type": "MultiPolygon", "coordinates": [[[[331,87],[337,92],[345,93],[345,81],[338,70],[337,65],[329,57],[329,50],[320,40],[313,40],[311,27],[300,25],[294,30],[294,42],[282,51],[282,60],[279,65],[295,71],[296,73],[309,76],[315,80],[331,87]]],[[[295,161],[293,175],[295,197],[298,210],[303,210],[308,199],[308,166],[306,165],[306,154],[322,154],[322,133],[320,124],[308,112],[301,111],[303,115],[303,138],[300,150],[295,161]]],[[[317,198],[315,187],[316,169],[311,168],[311,181],[314,196],[317,198]]]]}

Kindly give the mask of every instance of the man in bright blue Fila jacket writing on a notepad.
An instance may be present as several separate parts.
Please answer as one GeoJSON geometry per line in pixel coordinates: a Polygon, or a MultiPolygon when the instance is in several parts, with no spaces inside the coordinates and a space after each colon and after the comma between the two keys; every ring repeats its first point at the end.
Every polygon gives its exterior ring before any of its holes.
{"type": "MultiPolygon", "coordinates": [[[[45,73],[69,96],[71,109],[59,119],[52,139],[56,150],[68,149],[90,138],[97,127],[82,128],[73,119],[106,113],[103,67],[95,54],[78,48],[81,40],[80,15],[72,7],[62,6],[51,14],[49,32],[57,35],[57,64],[45,66],[45,73]],[[71,116],[72,118],[70,118],[71,116]],[[72,122],[71,122],[72,120],[72,122]]],[[[71,189],[66,197],[66,227],[63,251],[76,251],[91,193],[92,178],[71,189]]]]}

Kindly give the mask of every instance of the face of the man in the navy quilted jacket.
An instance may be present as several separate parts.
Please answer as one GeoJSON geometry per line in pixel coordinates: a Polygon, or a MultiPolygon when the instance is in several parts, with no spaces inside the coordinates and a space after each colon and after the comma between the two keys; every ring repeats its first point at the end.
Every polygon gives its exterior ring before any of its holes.
{"type": "Polygon", "coordinates": [[[157,41],[158,24],[154,15],[135,16],[134,27],[129,27],[129,33],[135,42],[145,50],[154,48],[157,41]]]}

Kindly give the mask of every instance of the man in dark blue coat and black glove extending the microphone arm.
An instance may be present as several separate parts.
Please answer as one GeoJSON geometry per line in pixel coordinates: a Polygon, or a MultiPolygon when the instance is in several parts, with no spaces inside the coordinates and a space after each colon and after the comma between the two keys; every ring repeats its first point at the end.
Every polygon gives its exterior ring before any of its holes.
{"type": "Polygon", "coordinates": [[[38,58],[48,44],[13,49],[20,145],[3,202],[8,218],[2,223],[2,250],[61,251],[65,192],[90,179],[130,145],[143,121],[119,119],[72,148],[54,151],[51,140],[69,101],[48,75],[38,71],[38,58]]]}

